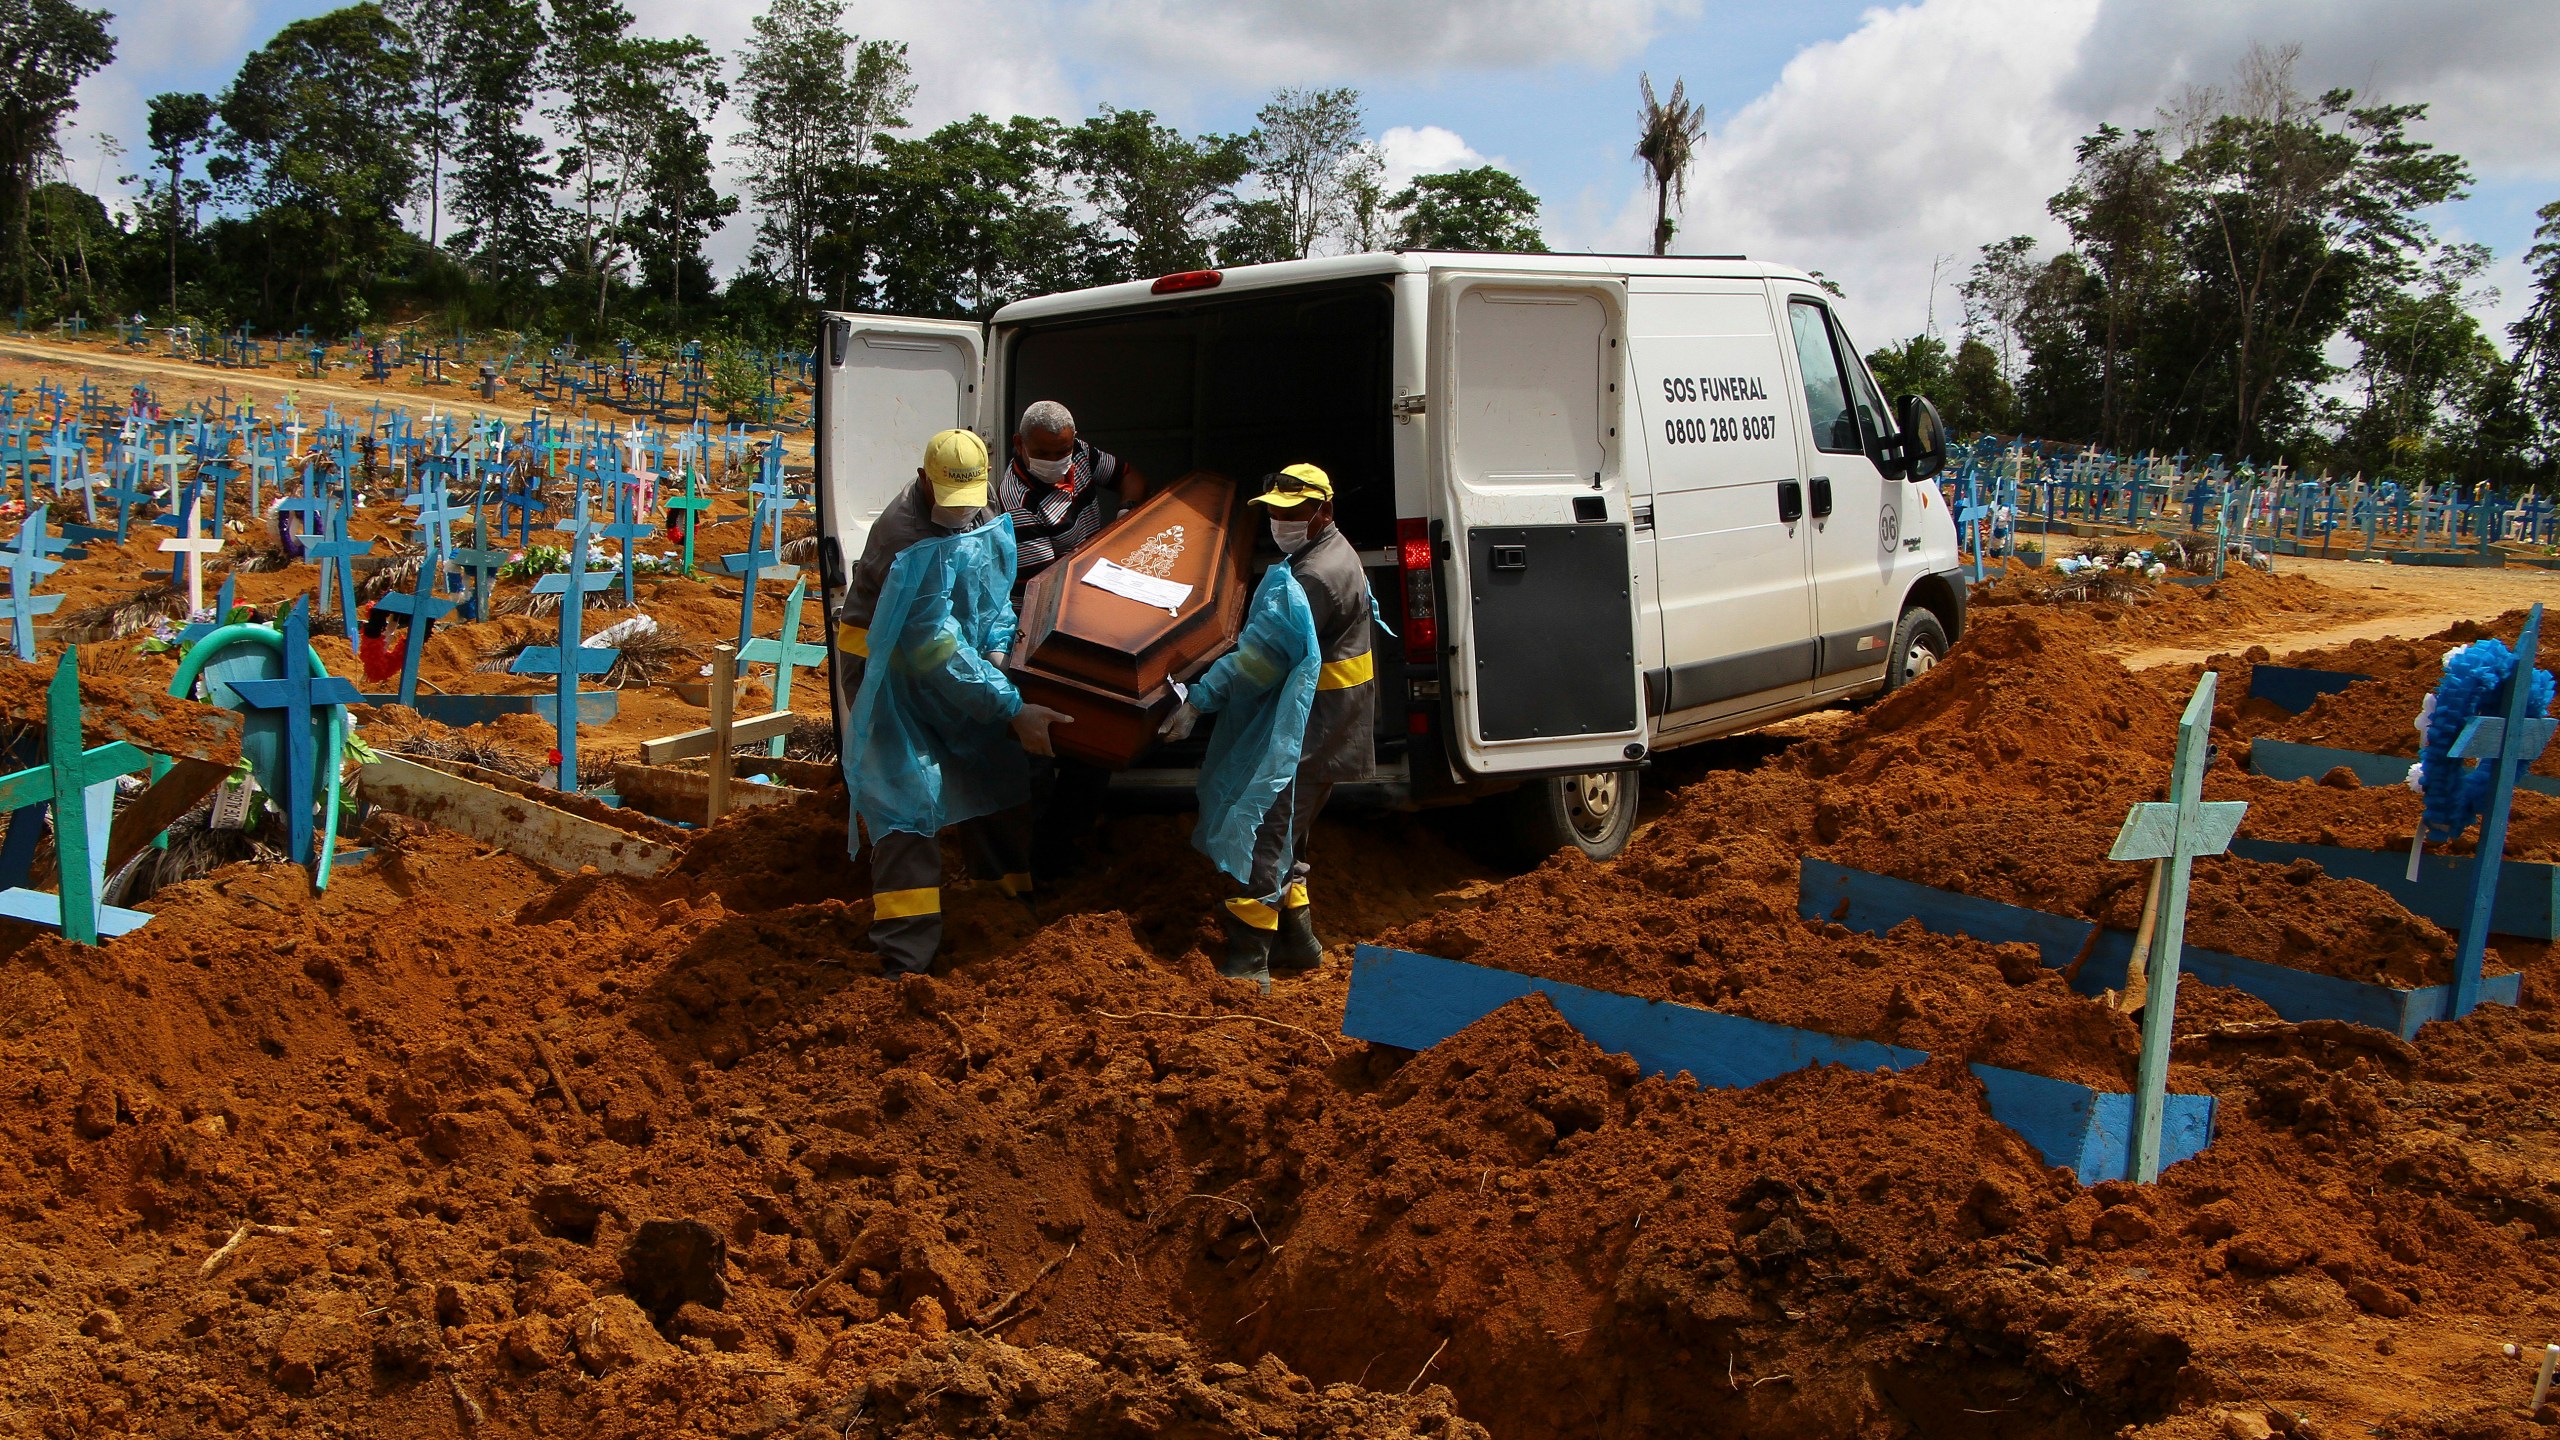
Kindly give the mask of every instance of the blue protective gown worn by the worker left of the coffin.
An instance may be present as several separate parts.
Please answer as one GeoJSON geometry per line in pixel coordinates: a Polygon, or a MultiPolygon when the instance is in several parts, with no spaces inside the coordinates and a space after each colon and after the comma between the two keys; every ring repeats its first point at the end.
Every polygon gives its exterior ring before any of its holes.
{"type": "Polygon", "coordinates": [[[852,812],[881,835],[934,835],[1029,799],[1011,738],[1021,692],[988,661],[1014,646],[1014,520],[899,551],[870,615],[852,700],[852,812]]]}

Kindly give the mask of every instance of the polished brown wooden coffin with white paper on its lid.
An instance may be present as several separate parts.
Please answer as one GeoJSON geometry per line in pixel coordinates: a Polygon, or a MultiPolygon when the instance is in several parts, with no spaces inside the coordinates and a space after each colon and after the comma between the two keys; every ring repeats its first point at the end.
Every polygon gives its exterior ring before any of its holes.
{"type": "Polygon", "coordinates": [[[1124,769],[1155,746],[1172,682],[1236,641],[1252,546],[1244,487],[1190,471],[1039,571],[1009,669],[1027,702],[1075,717],[1050,730],[1060,753],[1124,769]]]}

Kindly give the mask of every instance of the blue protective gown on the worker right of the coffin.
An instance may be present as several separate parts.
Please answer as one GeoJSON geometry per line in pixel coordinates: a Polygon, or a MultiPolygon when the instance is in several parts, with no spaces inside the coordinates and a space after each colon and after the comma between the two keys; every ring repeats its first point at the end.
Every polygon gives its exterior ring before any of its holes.
{"type": "Polygon", "coordinates": [[[1239,884],[1252,879],[1254,830],[1298,776],[1318,669],[1316,612],[1290,566],[1277,564],[1262,571],[1244,607],[1236,648],[1190,687],[1193,710],[1219,717],[1201,761],[1201,822],[1190,848],[1239,884]]]}

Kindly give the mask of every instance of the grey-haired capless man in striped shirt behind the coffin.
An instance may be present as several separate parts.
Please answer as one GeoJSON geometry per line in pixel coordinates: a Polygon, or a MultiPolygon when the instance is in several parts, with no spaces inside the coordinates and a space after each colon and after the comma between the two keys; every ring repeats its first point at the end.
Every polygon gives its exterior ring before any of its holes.
{"type": "MultiPolygon", "coordinates": [[[[1119,518],[1121,505],[1144,495],[1147,477],[1080,438],[1065,405],[1027,405],[1014,425],[1014,459],[996,477],[996,502],[1014,515],[1014,605],[1021,605],[1032,577],[1073,556],[1119,518]]],[[[1034,764],[1032,771],[1032,874],[1055,881],[1083,858],[1111,771],[1075,756],[1034,764]]]]}

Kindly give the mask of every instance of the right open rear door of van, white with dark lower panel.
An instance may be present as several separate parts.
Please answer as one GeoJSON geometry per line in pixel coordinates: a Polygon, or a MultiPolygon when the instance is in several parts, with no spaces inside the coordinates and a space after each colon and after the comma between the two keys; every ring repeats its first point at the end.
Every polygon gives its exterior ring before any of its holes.
{"type": "Polygon", "coordinates": [[[1439,272],[1431,348],[1452,758],[1472,774],[1623,769],[1644,756],[1626,284],[1439,272]]]}

